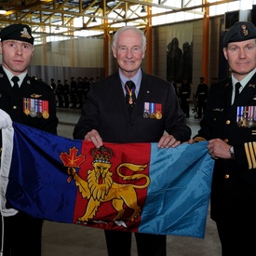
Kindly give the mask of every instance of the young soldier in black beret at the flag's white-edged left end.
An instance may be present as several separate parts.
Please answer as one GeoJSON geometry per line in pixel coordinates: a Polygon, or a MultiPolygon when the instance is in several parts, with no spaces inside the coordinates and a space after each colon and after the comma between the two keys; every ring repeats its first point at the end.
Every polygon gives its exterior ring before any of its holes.
{"type": "MultiPolygon", "coordinates": [[[[0,67],[0,128],[7,126],[9,122],[5,119],[8,116],[12,121],[57,134],[54,91],[46,83],[27,74],[34,54],[34,37],[30,27],[24,24],[7,26],[1,30],[0,38],[3,60],[0,67]]],[[[40,256],[43,220],[10,208],[7,206],[2,211],[4,237],[0,241],[4,238],[3,255],[40,256]]]]}

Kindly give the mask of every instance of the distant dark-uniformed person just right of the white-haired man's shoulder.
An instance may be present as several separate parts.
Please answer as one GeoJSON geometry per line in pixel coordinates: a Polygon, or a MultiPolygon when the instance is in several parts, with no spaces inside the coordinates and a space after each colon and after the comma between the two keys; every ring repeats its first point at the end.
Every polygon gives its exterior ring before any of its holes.
{"type": "Polygon", "coordinates": [[[190,94],[191,94],[191,86],[188,82],[187,78],[184,77],[182,79],[182,84],[179,90],[179,99],[181,102],[181,108],[183,113],[186,115],[186,118],[189,117],[189,100],[190,100],[190,94]]]}

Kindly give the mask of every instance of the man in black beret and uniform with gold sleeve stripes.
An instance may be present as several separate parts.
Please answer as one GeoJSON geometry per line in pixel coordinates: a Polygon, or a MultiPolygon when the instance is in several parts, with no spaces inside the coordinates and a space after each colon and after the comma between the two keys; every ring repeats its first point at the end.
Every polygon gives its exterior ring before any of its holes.
{"type": "Polygon", "coordinates": [[[222,255],[256,255],[256,27],[236,22],[222,46],[232,74],[210,88],[194,141],[208,140],[215,159],[210,216],[222,255]]]}

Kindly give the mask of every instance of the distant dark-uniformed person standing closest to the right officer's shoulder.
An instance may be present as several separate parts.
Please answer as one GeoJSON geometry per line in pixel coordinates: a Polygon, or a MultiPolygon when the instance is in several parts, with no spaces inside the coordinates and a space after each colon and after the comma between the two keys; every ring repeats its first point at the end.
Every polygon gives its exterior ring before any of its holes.
{"type": "Polygon", "coordinates": [[[205,78],[200,77],[200,83],[195,91],[195,101],[197,102],[197,118],[201,119],[202,115],[205,115],[206,105],[208,97],[208,85],[205,83],[205,78]]]}

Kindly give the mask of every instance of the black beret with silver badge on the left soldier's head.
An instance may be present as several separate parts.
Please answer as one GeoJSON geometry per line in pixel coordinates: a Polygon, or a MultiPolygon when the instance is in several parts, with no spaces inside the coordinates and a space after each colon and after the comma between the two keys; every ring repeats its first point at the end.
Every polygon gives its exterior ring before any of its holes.
{"type": "Polygon", "coordinates": [[[1,41],[18,40],[34,44],[34,37],[31,34],[31,28],[24,24],[12,24],[3,28],[0,32],[1,41]]]}

